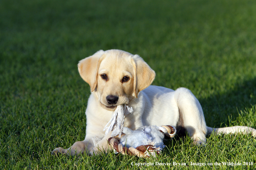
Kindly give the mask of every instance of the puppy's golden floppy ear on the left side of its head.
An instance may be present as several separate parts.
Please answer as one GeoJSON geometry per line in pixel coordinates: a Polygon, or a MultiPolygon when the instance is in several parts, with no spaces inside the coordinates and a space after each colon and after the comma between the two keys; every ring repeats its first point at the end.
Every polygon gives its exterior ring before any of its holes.
{"type": "Polygon", "coordinates": [[[100,62],[102,61],[102,56],[105,52],[100,50],[94,55],[84,58],[78,63],[78,71],[82,79],[90,85],[91,91],[97,86],[97,76],[100,67],[100,62]]]}

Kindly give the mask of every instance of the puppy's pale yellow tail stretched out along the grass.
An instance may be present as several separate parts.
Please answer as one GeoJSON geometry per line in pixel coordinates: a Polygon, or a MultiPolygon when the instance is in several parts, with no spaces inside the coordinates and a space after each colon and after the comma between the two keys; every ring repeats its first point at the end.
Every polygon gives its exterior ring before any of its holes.
{"type": "Polygon", "coordinates": [[[222,127],[213,128],[207,127],[207,134],[251,134],[256,137],[256,129],[247,126],[232,126],[232,127],[222,127]]]}

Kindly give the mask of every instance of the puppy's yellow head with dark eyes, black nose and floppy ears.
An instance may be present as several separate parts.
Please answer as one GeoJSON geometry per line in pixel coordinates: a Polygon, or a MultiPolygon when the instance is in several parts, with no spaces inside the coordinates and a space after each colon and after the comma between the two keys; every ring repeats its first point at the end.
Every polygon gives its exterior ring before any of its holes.
{"type": "Polygon", "coordinates": [[[121,50],[100,50],[79,61],[78,71],[100,105],[110,111],[131,102],[155,78],[155,72],[140,56],[121,50]]]}

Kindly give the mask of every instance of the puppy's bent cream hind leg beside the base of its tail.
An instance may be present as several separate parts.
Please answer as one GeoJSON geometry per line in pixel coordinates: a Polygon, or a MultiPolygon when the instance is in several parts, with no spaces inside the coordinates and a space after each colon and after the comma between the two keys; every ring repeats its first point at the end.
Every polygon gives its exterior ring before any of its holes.
{"type": "Polygon", "coordinates": [[[177,125],[187,130],[194,144],[206,143],[206,122],[197,98],[187,88],[178,88],[174,96],[180,114],[180,124],[177,125]]]}

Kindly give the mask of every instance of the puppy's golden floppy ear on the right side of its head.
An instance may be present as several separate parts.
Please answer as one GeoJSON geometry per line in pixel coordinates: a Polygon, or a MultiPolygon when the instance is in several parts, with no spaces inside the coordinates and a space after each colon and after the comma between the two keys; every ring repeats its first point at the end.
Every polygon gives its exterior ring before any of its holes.
{"type": "Polygon", "coordinates": [[[138,55],[131,57],[131,64],[134,68],[134,94],[135,97],[138,97],[140,91],[151,85],[155,79],[156,73],[138,55]]]}

